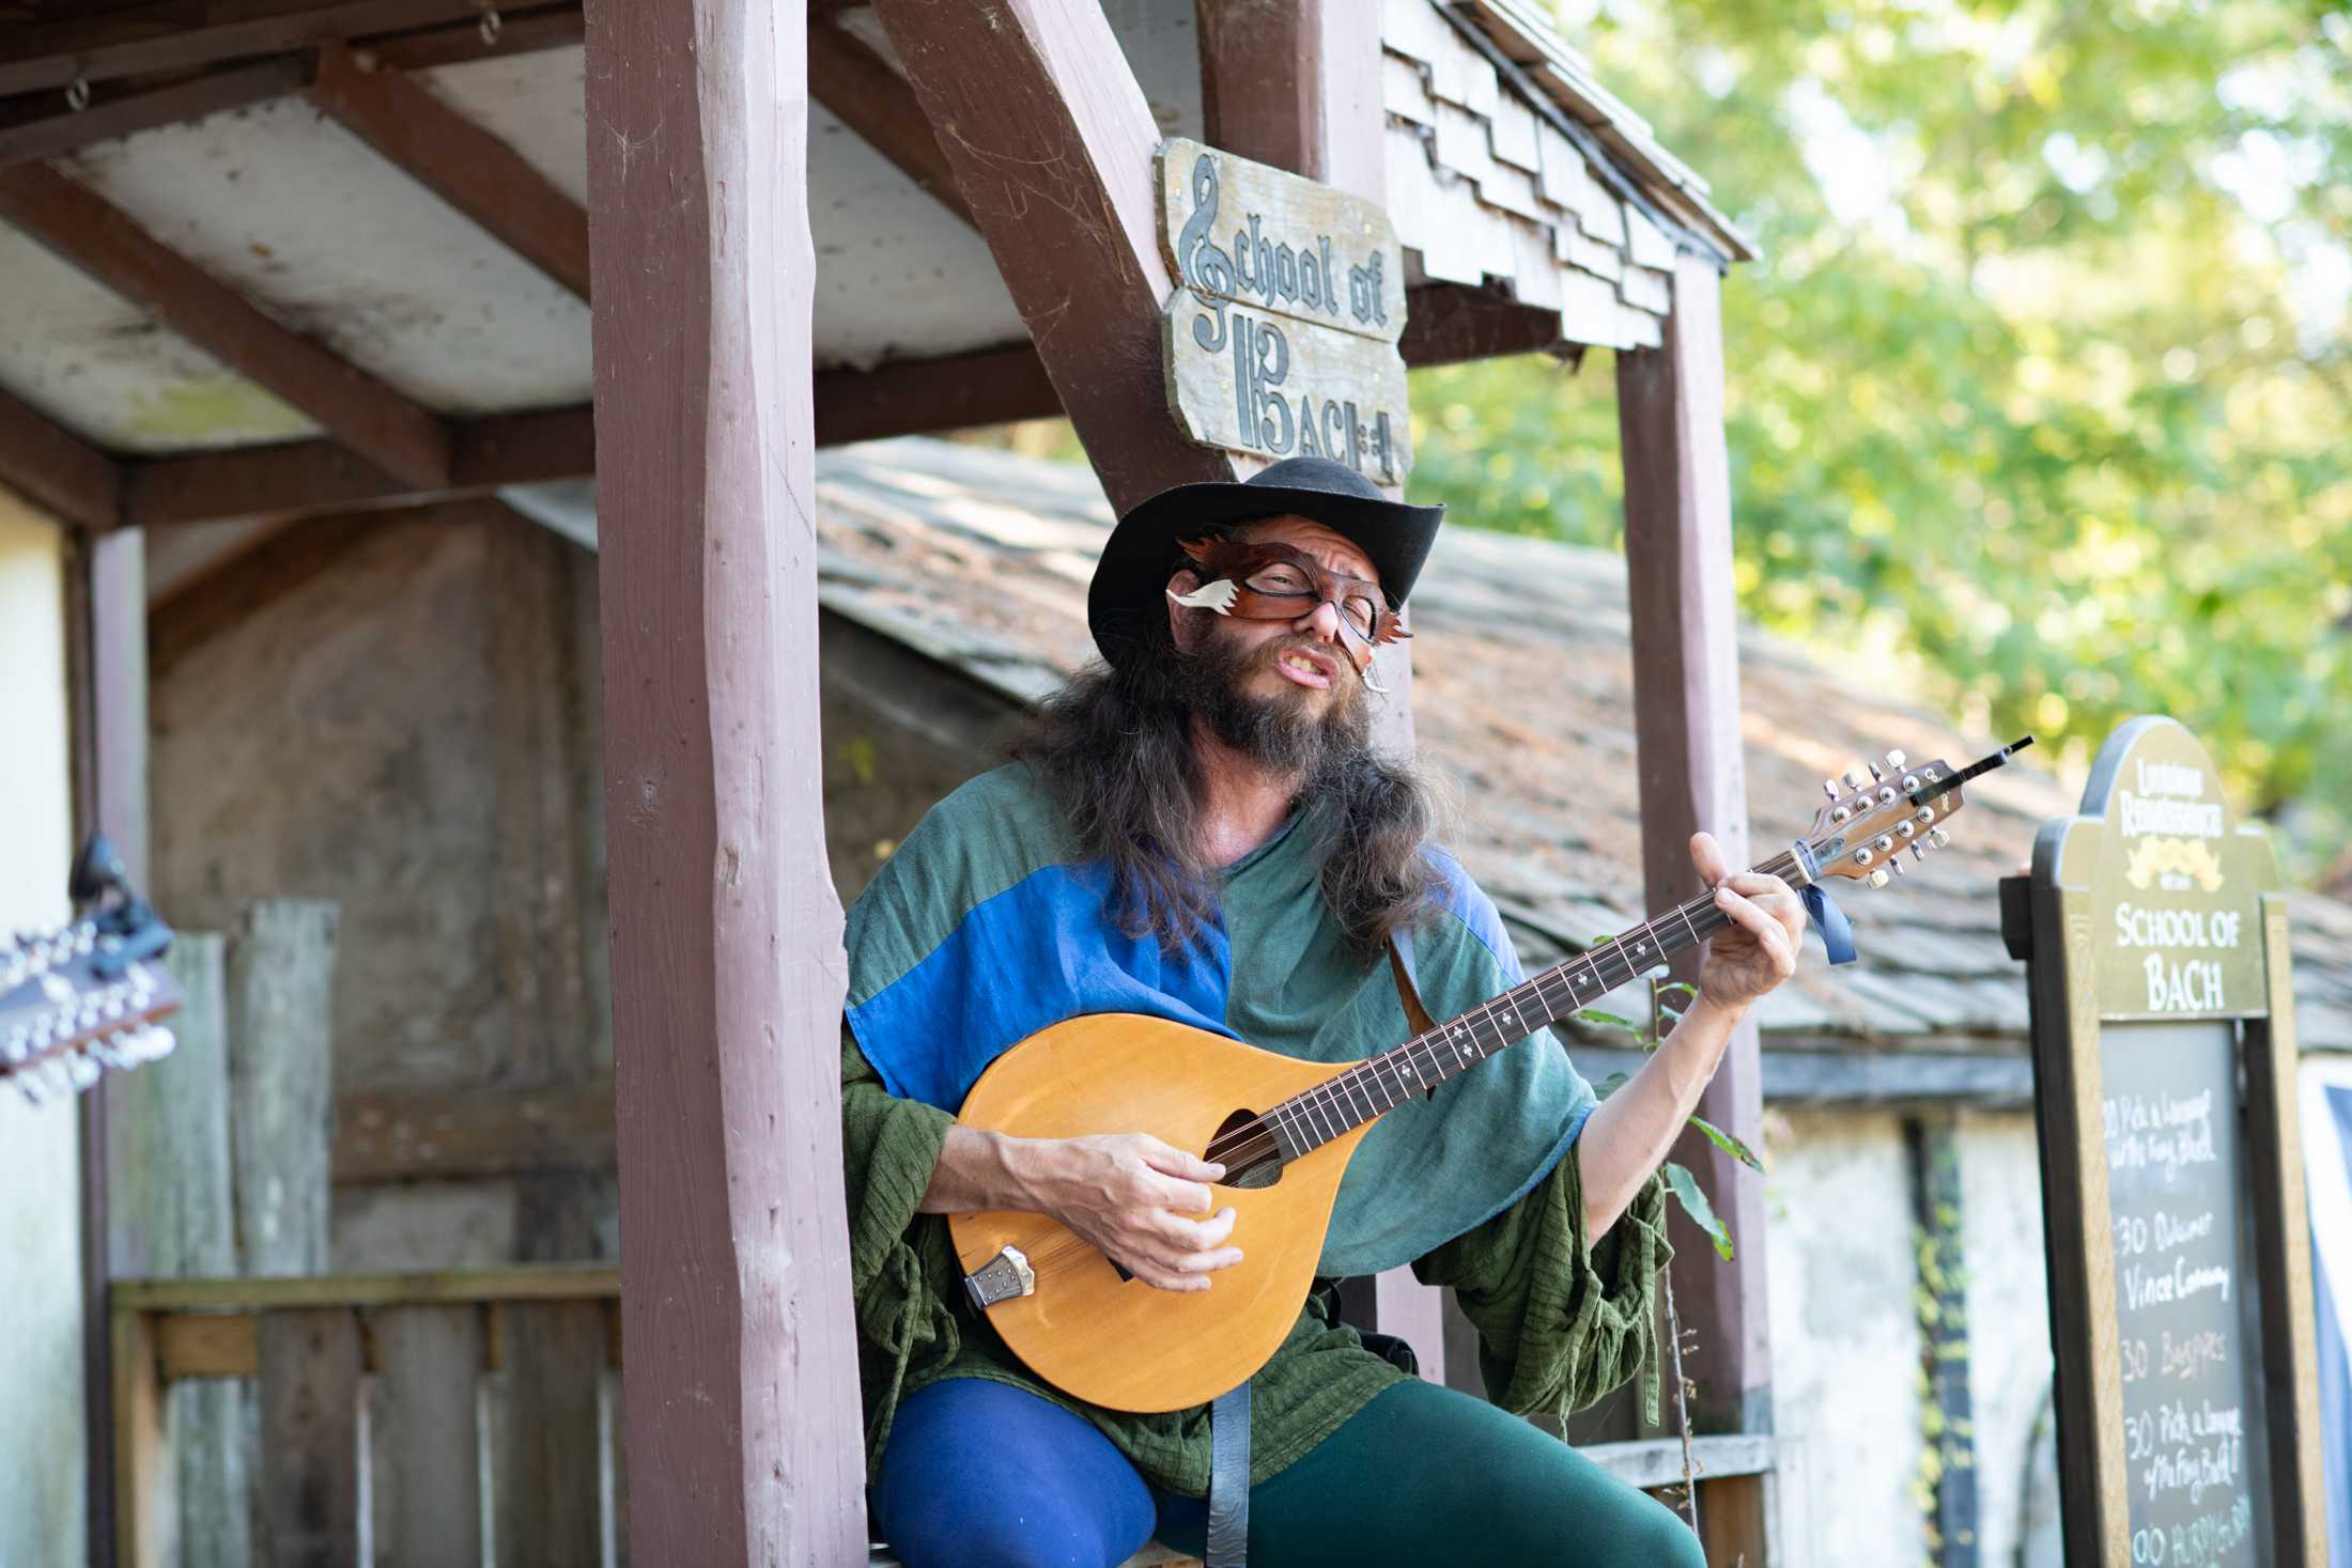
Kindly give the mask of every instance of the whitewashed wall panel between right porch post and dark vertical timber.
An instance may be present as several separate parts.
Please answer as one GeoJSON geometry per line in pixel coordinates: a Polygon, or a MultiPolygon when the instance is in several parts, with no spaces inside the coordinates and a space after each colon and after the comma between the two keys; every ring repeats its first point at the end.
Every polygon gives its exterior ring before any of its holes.
{"type": "Polygon", "coordinates": [[[1919,1274],[1903,1124],[1891,1112],[1773,1112],[1764,1164],[1785,1563],[1922,1563],[1919,1274]]]}

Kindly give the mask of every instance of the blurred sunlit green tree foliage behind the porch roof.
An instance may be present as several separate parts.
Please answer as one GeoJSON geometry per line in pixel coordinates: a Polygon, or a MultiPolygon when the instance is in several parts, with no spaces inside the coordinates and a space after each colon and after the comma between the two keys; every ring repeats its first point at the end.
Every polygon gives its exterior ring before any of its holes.
{"type": "MultiPolygon", "coordinates": [[[[2352,837],[2352,14],[1611,0],[1562,31],[1764,259],[1724,289],[1738,597],[2074,762],[2197,729],[2352,837]]],[[[1414,491],[1613,545],[1606,353],[1418,371],[1414,491]]]]}

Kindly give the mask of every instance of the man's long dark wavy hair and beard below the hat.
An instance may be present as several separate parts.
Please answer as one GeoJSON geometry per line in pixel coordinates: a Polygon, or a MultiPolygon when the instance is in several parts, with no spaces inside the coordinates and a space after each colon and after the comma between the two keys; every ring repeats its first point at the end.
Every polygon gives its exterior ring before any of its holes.
{"type": "MultiPolygon", "coordinates": [[[[1117,665],[1089,665],[1049,696],[1014,745],[1070,813],[1080,853],[1110,863],[1110,903],[1129,936],[1157,936],[1176,952],[1216,907],[1214,865],[1200,853],[1204,790],[1192,717],[1228,745],[1296,773],[1322,858],[1322,896],[1357,957],[1374,957],[1411,926],[1437,889],[1423,856],[1432,799],[1421,778],[1371,750],[1362,691],[1334,701],[1319,722],[1240,696],[1237,679],[1270,663],[1277,639],[1242,654],[1221,637],[1176,649],[1162,616],[1148,616],[1117,665]]],[[[1343,651],[1338,679],[1355,682],[1343,651]]]]}

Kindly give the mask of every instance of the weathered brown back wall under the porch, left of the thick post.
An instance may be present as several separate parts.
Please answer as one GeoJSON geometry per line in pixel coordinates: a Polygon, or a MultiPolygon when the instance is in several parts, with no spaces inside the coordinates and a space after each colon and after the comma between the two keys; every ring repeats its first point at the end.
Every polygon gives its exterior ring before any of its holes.
{"type": "MultiPolygon", "coordinates": [[[[191,929],[339,905],[339,1095],[607,1081],[593,574],[468,508],[301,524],[155,609],[153,896],[191,929]]],[[[320,1267],[616,1232],[609,1175],[343,1187],[332,1229],[320,1267]]]]}

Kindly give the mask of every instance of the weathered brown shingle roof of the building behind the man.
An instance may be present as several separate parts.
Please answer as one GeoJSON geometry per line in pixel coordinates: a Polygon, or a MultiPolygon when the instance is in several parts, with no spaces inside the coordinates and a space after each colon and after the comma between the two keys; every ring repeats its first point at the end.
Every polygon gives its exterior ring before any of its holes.
{"type": "MultiPolygon", "coordinates": [[[[1084,592],[1112,515],[1087,468],[934,440],[821,451],[818,595],[1018,701],[1094,658],[1084,592]]],[[[1421,762],[1456,785],[1446,835],[1522,957],[1545,964],[1639,919],[1625,562],[1454,527],[1414,592],[1421,762]]],[[[1755,858],[1813,820],[1820,780],[1886,748],[1966,764],[1994,750],[1907,698],[1900,668],[1839,670],[1740,632],[1755,858]]],[[[1950,849],[1896,884],[1839,884],[1860,961],[1806,964],[1757,1009],[1785,1044],[2013,1051],[2025,971],[1994,882],[2077,799],[2032,755],[1966,790],[1950,849]]],[[[2352,1048],[2352,907],[2293,898],[2305,1048],[2352,1048]]]]}

